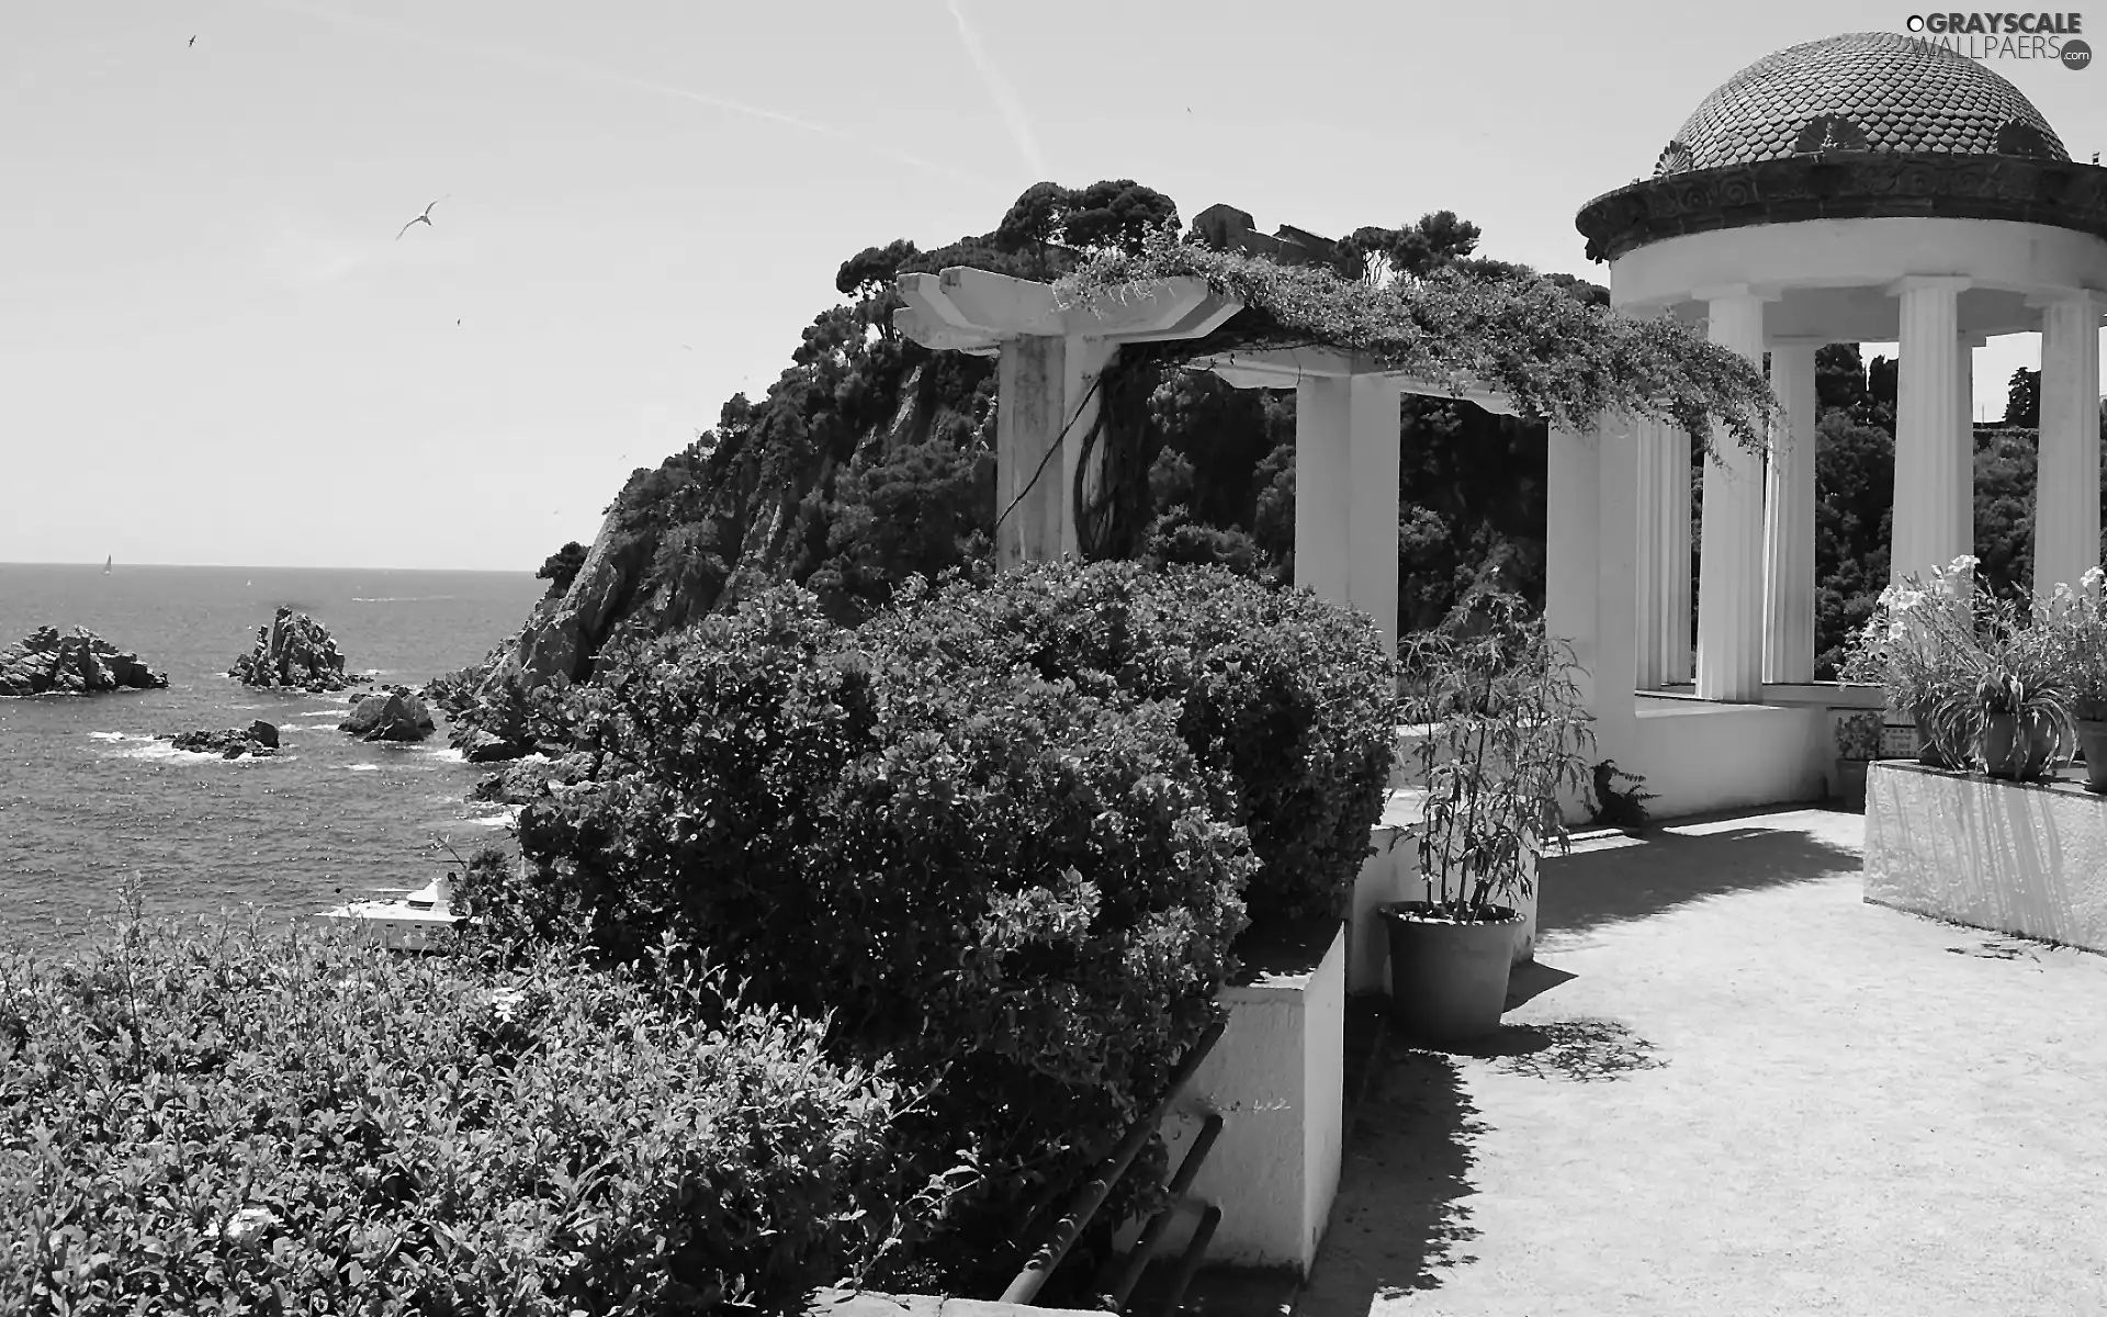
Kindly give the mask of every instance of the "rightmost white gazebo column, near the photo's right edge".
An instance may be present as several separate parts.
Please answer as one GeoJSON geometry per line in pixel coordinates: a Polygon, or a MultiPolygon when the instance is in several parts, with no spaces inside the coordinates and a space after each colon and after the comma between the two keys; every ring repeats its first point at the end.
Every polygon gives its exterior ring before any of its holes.
{"type": "Polygon", "coordinates": [[[2042,303],[2042,459],[2033,491],[2033,588],[2101,563],[2099,301],[2073,291],[2042,303]]]}

